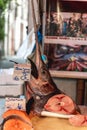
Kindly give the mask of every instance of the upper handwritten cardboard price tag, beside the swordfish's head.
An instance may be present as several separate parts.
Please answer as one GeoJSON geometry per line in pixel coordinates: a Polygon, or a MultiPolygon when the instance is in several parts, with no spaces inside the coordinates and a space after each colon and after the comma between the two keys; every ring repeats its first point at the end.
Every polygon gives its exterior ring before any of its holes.
{"type": "Polygon", "coordinates": [[[31,64],[14,64],[13,79],[16,81],[29,81],[31,75],[31,64]]]}

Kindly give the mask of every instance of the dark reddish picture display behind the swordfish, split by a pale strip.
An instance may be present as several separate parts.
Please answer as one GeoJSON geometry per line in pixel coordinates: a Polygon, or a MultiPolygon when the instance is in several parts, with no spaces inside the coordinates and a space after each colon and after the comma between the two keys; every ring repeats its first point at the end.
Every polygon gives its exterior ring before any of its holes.
{"type": "Polygon", "coordinates": [[[50,70],[87,72],[86,7],[85,0],[47,0],[44,53],[50,70]]]}

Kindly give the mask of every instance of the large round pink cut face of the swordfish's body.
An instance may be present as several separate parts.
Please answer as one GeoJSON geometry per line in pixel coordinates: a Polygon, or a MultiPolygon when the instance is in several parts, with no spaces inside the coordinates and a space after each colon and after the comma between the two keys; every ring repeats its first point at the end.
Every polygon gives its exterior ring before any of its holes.
{"type": "Polygon", "coordinates": [[[64,94],[57,94],[52,96],[44,108],[47,111],[61,113],[61,114],[72,114],[75,112],[76,105],[73,100],[64,94]]]}

